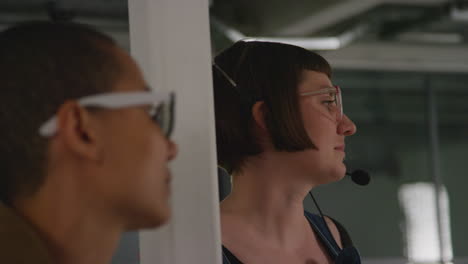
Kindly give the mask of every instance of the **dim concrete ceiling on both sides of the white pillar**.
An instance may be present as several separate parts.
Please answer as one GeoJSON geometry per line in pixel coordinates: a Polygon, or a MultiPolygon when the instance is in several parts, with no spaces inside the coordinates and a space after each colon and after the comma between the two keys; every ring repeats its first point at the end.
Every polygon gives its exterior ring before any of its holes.
{"type": "MultiPolygon", "coordinates": [[[[468,0],[210,3],[212,21],[243,36],[331,38],[335,46],[323,54],[335,68],[468,72],[468,0]]],[[[53,5],[113,35],[128,48],[127,0],[2,0],[0,28],[27,19],[48,19],[53,5]]],[[[232,43],[225,33],[213,26],[215,52],[232,43]]]]}

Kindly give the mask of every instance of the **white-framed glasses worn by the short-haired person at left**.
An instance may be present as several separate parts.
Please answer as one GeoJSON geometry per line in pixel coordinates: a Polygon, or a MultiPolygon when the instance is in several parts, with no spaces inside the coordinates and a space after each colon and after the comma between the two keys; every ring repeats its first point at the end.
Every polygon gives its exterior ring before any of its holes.
{"type": "MultiPolygon", "coordinates": [[[[142,92],[115,92],[86,96],[78,100],[83,107],[97,107],[104,109],[119,109],[132,106],[149,105],[148,114],[163,131],[166,137],[172,133],[174,124],[175,95],[171,93],[142,92]]],[[[52,137],[57,133],[57,116],[52,116],[39,127],[39,134],[43,137],[52,137]]]]}

